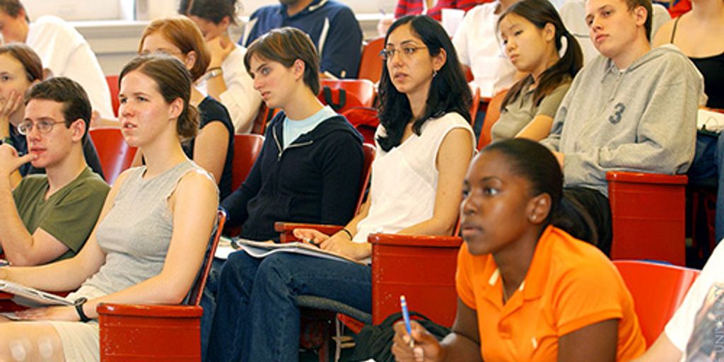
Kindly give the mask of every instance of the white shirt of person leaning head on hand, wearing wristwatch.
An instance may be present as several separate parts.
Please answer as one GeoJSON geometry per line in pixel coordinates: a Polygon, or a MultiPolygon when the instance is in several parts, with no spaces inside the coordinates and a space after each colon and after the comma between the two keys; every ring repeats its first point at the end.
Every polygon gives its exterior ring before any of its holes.
{"type": "MultiPolygon", "coordinates": [[[[219,95],[217,101],[227,107],[231,122],[237,134],[249,133],[254,125],[254,118],[261,106],[261,94],[254,90],[254,83],[244,67],[246,48],[235,44],[234,49],[222,62],[222,72],[227,90],[219,95]]],[[[201,77],[196,88],[208,95],[206,79],[201,77]]]]}

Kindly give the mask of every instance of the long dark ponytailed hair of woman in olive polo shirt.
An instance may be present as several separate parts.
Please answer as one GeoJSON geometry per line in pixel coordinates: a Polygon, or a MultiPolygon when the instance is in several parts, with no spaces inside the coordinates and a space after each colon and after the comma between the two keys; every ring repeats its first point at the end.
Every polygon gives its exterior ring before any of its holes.
{"type": "MultiPolygon", "coordinates": [[[[583,52],[581,52],[581,46],[578,45],[576,38],[568,33],[563,25],[563,20],[560,20],[560,15],[555,10],[555,7],[548,2],[548,0],[523,0],[515,3],[512,7],[508,8],[500,18],[498,19],[498,28],[500,28],[500,22],[508,14],[516,14],[519,17],[532,22],[536,28],[543,29],[545,25],[550,23],[555,27],[555,49],[560,51],[563,46],[561,38],[565,37],[568,45],[565,47],[565,54],[558,59],[555,64],[545,70],[538,80],[538,86],[533,92],[533,103],[538,106],[543,98],[549,95],[558,85],[573,80],[576,77],[578,70],[581,70],[584,64],[583,52]]],[[[510,101],[518,99],[523,91],[523,85],[526,80],[518,80],[505,95],[505,98],[500,104],[500,109],[505,109],[510,101]]]]}

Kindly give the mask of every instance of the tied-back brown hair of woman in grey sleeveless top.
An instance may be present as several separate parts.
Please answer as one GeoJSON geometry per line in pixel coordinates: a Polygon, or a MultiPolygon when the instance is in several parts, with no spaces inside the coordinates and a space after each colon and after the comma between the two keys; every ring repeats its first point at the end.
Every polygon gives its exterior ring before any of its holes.
{"type": "Polygon", "coordinates": [[[176,122],[176,132],[182,140],[195,137],[198,132],[198,111],[189,104],[191,98],[190,72],[184,64],[173,56],[140,55],[131,59],[118,76],[118,84],[128,73],[138,70],[156,82],[156,90],[161,93],[166,103],[177,98],[183,101],[183,109],[176,122]]]}

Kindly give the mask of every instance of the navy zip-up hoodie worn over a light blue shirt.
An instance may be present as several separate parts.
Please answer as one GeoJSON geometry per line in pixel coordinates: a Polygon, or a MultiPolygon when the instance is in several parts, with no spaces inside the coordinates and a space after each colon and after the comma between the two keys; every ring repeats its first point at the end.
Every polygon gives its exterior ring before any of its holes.
{"type": "Polygon", "coordinates": [[[274,222],[342,225],[354,216],[363,167],[362,136],[342,116],[325,119],[282,151],[279,112],[243,184],[222,201],[241,237],[279,240],[274,222]]]}

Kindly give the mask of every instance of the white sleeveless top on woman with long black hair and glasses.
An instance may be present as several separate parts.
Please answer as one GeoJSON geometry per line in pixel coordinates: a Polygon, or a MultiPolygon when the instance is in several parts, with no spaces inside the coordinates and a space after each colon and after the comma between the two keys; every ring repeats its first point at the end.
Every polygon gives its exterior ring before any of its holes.
{"type": "MultiPolygon", "coordinates": [[[[432,218],[439,177],[437,151],[447,133],[455,128],[470,132],[474,149],[473,130],[457,113],[429,119],[420,135],[411,135],[389,152],[376,144],[369,189],[370,209],[367,217],[357,224],[355,243],[366,243],[367,235],[374,232],[394,233],[432,218]]],[[[375,140],[381,134],[385,134],[382,125],[377,127],[375,140]]]]}

